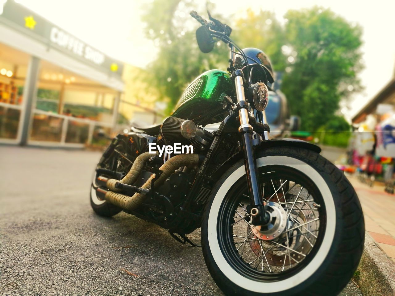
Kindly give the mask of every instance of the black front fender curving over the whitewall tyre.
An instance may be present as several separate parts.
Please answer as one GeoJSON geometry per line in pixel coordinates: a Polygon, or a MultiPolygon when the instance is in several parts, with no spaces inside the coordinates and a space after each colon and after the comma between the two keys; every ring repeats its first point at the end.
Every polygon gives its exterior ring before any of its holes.
{"type": "MultiPolygon", "coordinates": [[[[315,144],[299,140],[299,139],[289,139],[289,138],[284,138],[284,139],[273,139],[273,140],[266,140],[261,142],[260,146],[256,148],[256,150],[265,150],[266,148],[272,148],[272,147],[295,147],[295,148],[304,148],[307,150],[314,151],[316,153],[321,152],[321,148],[315,144]]],[[[239,161],[239,159],[243,158],[243,152],[237,152],[233,154],[231,157],[229,157],[213,174],[212,178],[214,180],[217,180],[224,174],[224,172],[231,167],[234,163],[239,161]]]]}

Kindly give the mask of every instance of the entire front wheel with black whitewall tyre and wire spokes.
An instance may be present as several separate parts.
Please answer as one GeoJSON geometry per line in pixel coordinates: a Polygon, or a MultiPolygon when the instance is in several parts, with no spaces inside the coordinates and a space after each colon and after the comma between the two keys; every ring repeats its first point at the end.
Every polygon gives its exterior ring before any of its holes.
{"type": "Polygon", "coordinates": [[[363,251],[361,205],[344,174],[303,148],[257,153],[269,225],[251,225],[243,161],[211,192],[201,228],[203,255],[226,295],[337,295],[363,251]]]}

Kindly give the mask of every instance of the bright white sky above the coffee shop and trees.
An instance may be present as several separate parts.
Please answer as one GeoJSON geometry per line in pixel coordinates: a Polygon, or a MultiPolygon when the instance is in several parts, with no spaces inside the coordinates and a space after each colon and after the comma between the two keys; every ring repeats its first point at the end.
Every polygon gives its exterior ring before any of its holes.
{"type": "MultiPolygon", "coordinates": [[[[9,0],[11,1],[11,0],[9,0]]],[[[191,1],[191,0],[189,0],[191,1]]],[[[194,0],[192,0],[194,1],[194,0]]],[[[145,67],[154,59],[156,48],[145,39],[144,23],[140,16],[144,4],[150,0],[19,0],[23,5],[64,28],[76,37],[109,56],[129,64],[145,67]]],[[[198,1],[201,15],[205,1],[198,1]]],[[[223,15],[243,15],[248,7],[274,11],[282,19],[288,9],[314,5],[329,7],[350,22],[363,28],[362,46],[365,69],[360,78],[365,90],[355,94],[346,117],[350,118],[367,103],[394,75],[395,66],[395,2],[375,0],[363,2],[345,0],[212,0],[216,11],[223,15]]],[[[189,15],[186,15],[189,17],[189,15]]],[[[233,28],[237,30],[237,28],[233,28]]],[[[248,47],[248,44],[241,45],[248,47]]],[[[263,49],[264,51],[265,49],[263,49]]],[[[227,57],[224,57],[227,58],[227,57]]],[[[345,110],[344,110],[345,111],[345,110]]]]}

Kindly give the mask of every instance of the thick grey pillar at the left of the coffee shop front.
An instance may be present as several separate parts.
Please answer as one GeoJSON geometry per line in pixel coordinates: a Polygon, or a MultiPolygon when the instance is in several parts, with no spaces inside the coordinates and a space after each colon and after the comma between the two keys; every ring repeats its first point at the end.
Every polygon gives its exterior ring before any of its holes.
{"type": "Polygon", "coordinates": [[[24,146],[27,144],[30,131],[30,123],[32,122],[33,105],[37,97],[37,82],[40,69],[40,59],[32,56],[26,73],[26,81],[23,88],[23,112],[22,121],[19,124],[21,129],[21,141],[19,144],[24,146]]]}

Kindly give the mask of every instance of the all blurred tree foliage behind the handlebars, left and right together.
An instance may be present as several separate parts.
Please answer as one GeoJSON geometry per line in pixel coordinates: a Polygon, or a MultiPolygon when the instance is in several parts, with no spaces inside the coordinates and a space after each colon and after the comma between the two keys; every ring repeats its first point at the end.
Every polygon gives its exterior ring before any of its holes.
{"type": "MultiPolygon", "coordinates": [[[[147,37],[159,48],[149,66],[149,79],[161,97],[169,99],[168,111],[203,71],[227,67],[224,43],[209,54],[199,51],[198,23],[188,15],[192,9],[203,11],[196,5],[187,0],[154,0],[143,16],[147,37]]],[[[262,49],[275,71],[284,72],[281,90],[291,113],[301,116],[303,129],[315,131],[326,124],[334,118],[340,100],[360,89],[361,28],[331,10],[290,10],[285,25],[263,10],[247,10],[233,23],[216,17],[233,28],[231,37],[240,47],[262,49]]]]}

